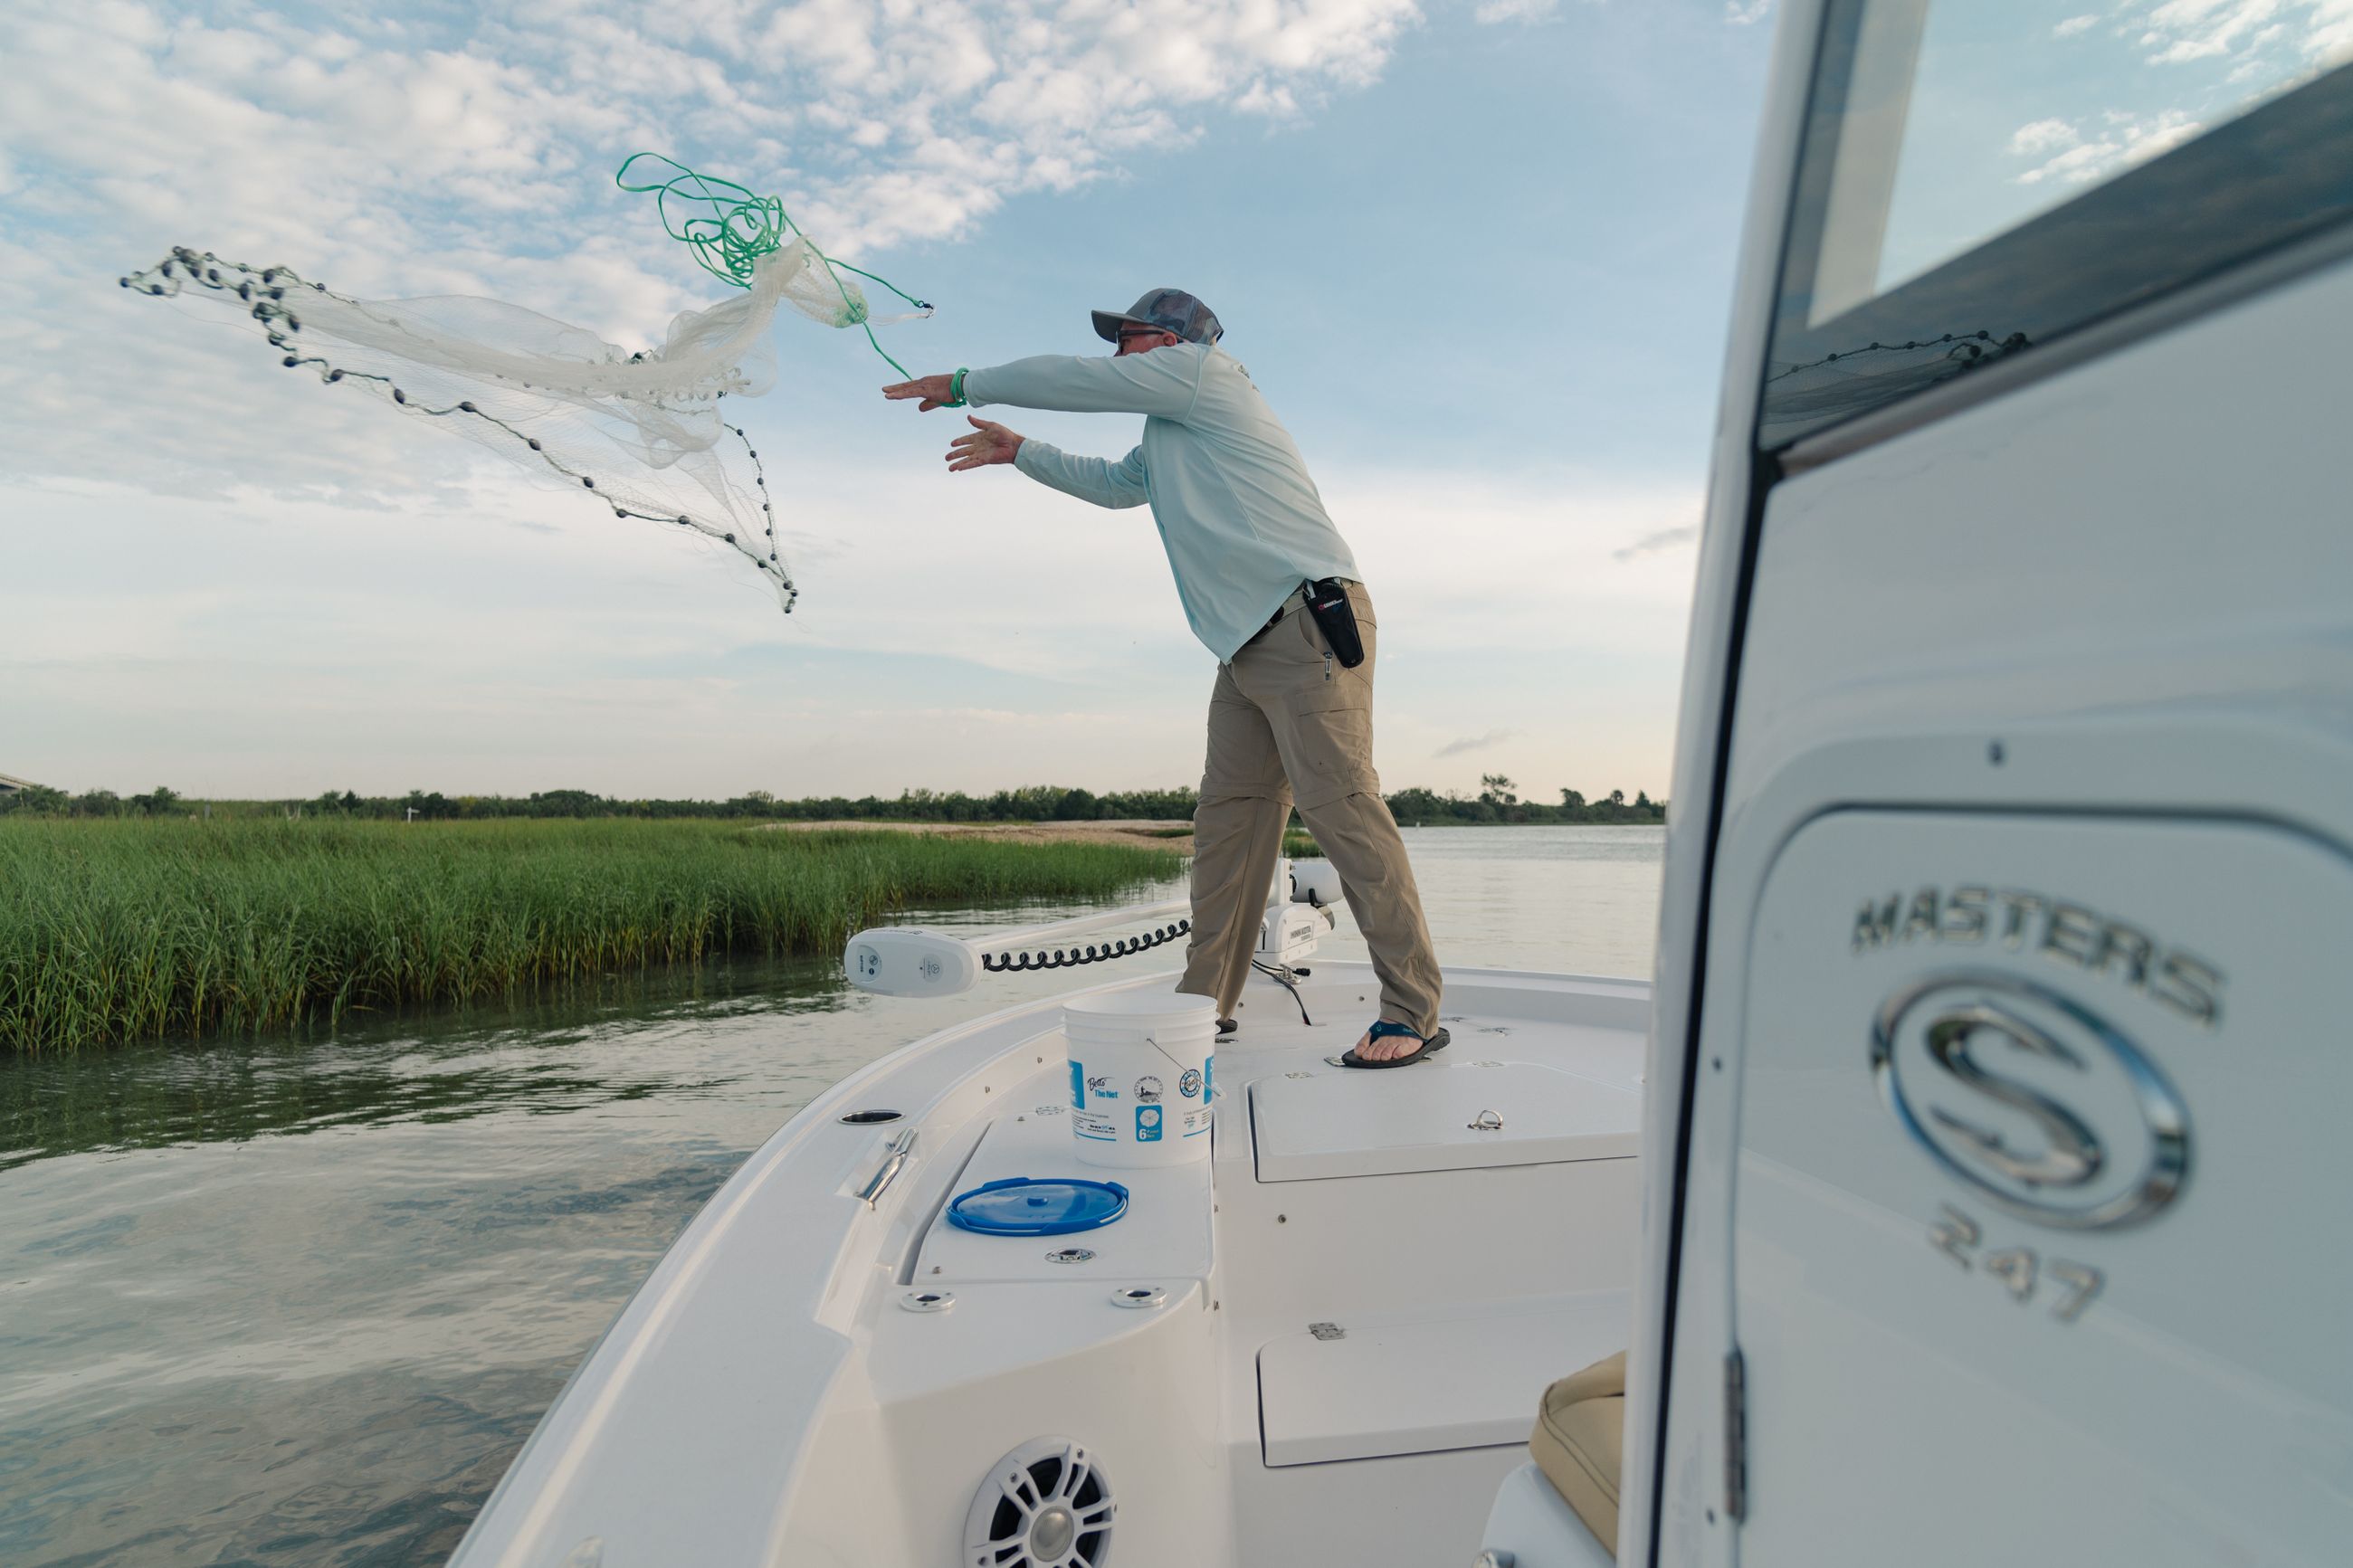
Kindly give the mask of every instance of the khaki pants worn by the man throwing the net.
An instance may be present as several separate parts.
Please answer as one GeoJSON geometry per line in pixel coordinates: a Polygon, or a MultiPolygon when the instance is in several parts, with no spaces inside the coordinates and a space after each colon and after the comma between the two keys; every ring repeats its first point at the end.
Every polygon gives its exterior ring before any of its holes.
{"type": "Polygon", "coordinates": [[[1344,670],[1297,607],[1217,668],[1193,813],[1193,940],[1176,990],[1214,997],[1233,1018],[1297,799],[1372,950],[1381,1018],[1426,1037],[1438,1027],[1438,954],[1372,771],[1372,599],[1351,585],[1348,602],[1365,642],[1358,668],[1344,670]]]}

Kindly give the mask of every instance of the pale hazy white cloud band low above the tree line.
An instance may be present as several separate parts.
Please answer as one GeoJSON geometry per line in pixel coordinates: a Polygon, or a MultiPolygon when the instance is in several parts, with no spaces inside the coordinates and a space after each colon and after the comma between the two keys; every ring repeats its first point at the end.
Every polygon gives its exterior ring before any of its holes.
{"type": "MultiPolygon", "coordinates": [[[[0,480],[5,766],[271,797],[565,780],[1101,790],[1200,773],[1214,663],[1144,512],[1002,470],[802,480],[802,512],[856,527],[831,555],[800,552],[791,621],[725,548],[581,517],[569,494],[504,470],[365,515],[334,491],[158,505],[106,480],[0,480]],[[951,505],[958,527],[941,529],[951,505]]],[[[1435,752],[1518,729],[1515,769],[1661,788],[1692,557],[1612,557],[1692,517],[1697,480],[1329,480],[1377,607],[1393,783],[1464,783],[1435,752]],[[1546,726],[1527,731],[1537,710],[1546,726]]]]}

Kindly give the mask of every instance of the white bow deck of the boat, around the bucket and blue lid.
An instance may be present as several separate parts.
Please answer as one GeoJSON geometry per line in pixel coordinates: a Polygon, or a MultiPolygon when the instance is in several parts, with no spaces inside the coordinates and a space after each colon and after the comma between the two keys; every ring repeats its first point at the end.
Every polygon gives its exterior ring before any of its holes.
{"type": "Polygon", "coordinates": [[[1332,1065],[1367,966],[1299,1004],[1252,980],[1188,1166],[1078,1161],[1059,1001],[838,1086],[680,1237],[456,1561],[958,1561],[1040,1436],[1101,1467],[1122,1568],[1468,1561],[1544,1385],[1626,1345],[1649,987],[1449,971],[1452,1046],[1391,1072],[1332,1065]],[[1007,1175],[1129,1211],[946,1222],[1007,1175]]]}

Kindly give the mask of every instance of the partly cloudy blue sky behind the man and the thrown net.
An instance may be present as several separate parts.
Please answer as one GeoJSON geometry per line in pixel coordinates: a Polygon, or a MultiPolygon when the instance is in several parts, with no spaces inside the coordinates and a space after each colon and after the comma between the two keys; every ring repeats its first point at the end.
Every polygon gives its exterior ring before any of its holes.
{"type": "MultiPolygon", "coordinates": [[[[2179,2],[2179,0],[2177,0],[2179,2]]],[[[652,346],[725,289],[612,169],[774,190],[915,371],[1193,289],[1381,625],[1388,790],[1666,790],[1769,0],[0,0],[0,773],[209,797],[1195,783],[1151,520],[779,320],[800,583],[278,369],[174,244],[652,346]]],[[[1134,416],[991,409],[1118,456],[1134,416]]]]}

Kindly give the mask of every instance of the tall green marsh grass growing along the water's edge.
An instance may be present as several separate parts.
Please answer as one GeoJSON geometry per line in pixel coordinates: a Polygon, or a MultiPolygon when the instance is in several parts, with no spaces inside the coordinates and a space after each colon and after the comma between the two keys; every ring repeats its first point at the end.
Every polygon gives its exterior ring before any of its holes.
{"type": "Polygon", "coordinates": [[[911,907],[1108,898],[1172,851],[711,820],[0,820],[0,1048],[336,1023],[725,954],[911,907]]]}

